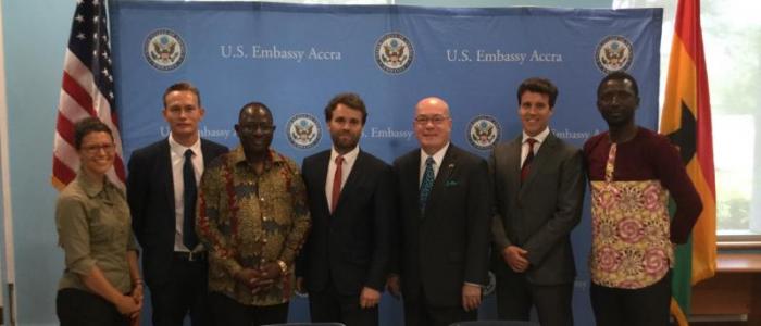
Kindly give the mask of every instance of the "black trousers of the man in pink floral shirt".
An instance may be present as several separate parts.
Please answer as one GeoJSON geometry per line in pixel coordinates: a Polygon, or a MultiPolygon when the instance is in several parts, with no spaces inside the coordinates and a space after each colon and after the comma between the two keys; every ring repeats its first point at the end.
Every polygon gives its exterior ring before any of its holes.
{"type": "Polygon", "coordinates": [[[641,289],[616,289],[592,283],[591,308],[598,326],[666,326],[671,304],[671,271],[641,289]]]}

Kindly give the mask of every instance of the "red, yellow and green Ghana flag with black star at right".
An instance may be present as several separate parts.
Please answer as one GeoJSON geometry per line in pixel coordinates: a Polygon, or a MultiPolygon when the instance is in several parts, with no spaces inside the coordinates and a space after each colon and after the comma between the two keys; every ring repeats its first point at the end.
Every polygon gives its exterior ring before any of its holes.
{"type": "Polygon", "coordinates": [[[669,77],[661,116],[661,134],[679,147],[682,161],[702,200],[693,237],[676,250],[671,311],[687,325],[690,289],[716,269],[716,191],[713,178],[711,103],[700,28],[700,1],[679,0],[669,77]]]}

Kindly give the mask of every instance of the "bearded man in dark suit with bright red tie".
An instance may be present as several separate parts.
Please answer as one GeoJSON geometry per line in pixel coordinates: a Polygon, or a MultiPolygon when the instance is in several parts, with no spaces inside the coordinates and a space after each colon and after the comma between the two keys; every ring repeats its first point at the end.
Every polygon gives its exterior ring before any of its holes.
{"type": "Polygon", "coordinates": [[[304,159],[312,229],[297,263],[297,287],[309,292],[312,322],[378,325],[396,218],[391,167],[360,150],[367,120],[355,93],[325,108],[333,148],[304,159]]]}

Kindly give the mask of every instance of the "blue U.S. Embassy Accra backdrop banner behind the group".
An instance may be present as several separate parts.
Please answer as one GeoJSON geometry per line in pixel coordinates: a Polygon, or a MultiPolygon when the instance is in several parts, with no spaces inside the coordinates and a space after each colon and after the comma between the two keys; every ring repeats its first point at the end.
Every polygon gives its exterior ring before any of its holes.
{"type": "MultiPolygon", "coordinates": [[[[550,127],[582,146],[604,130],[596,106],[602,76],[624,70],[639,82],[637,122],[658,122],[662,9],[439,9],[259,2],[110,1],[114,76],[125,158],[169,134],[164,89],[189,80],[201,91],[201,136],[237,146],[238,110],[260,101],[274,113],[273,147],[300,162],[328,149],[323,109],[358,92],[369,120],[361,147],[391,162],[416,147],[413,106],[447,100],[452,141],[486,156],[516,137],[516,88],[533,76],[560,90],[550,127]]],[[[588,209],[573,235],[576,324],[591,325],[588,209]]],[[[308,318],[303,298],[290,318],[308,318]]],[[[482,308],[495,318],[494,296],[482,308]]],[[[401,325],[401,305],[382,301],[382,323],[401,325]]]]}

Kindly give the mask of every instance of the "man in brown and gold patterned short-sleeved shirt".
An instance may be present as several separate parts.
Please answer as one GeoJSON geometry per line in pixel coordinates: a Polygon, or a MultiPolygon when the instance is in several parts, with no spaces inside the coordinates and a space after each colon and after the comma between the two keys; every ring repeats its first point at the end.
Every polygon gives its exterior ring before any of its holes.
{"type": "Polygon", "coordinates": [[[294,258],[310,228],[299,167],[271,150],[272,113],[240,109],[240,146],[201,178],[196,229],[209,248],[209,291],[216,325],[285,323],[294,258]]]}

